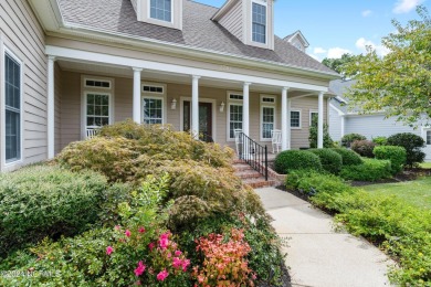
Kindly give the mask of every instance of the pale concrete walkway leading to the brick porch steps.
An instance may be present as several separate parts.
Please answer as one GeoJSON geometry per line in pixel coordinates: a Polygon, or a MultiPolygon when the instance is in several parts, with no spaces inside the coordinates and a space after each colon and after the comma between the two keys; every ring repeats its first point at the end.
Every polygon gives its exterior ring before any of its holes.
{"type": "Polygon", "coordinates": [[[278,235],[288,238],[283,251],[292,286],[390,286],[386,274],[393,262],[374,245],[347,232],[335,232],[332,216],[288,192],[275,188],[255,191],[278,235]]]}

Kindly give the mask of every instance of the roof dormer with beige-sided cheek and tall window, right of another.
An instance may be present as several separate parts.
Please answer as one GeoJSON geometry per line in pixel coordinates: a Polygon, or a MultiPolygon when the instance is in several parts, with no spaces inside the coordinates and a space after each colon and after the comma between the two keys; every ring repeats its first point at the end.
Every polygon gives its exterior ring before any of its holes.
{"type": "Polygon", "coordinates": [[[273,0],[228,0],[212,20],[246,45],[274,50],[273,0]]]}

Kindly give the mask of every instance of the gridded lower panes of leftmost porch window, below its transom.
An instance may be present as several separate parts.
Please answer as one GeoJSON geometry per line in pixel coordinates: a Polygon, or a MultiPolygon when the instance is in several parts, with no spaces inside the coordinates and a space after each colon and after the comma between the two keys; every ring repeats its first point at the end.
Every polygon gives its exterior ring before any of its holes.
{"type": "Polygon", "coordinates": [[[86,114],[87,127],[109,125],[109,95],[87,94],[86,114]]]}

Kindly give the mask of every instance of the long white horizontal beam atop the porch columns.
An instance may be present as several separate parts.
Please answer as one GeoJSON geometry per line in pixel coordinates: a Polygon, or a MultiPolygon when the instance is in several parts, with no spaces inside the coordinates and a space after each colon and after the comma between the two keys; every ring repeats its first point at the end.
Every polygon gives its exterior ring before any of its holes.
{"type": "Polygon", "coordinates": [[[202,77],[208,77],[208,78],[224,79],[228,82],[241,82],[241,83],[249,82],[249,83],[265,85],[270,87],[288,86],[293,89],[328,92],[328,87],[325,86],[273,79],[266,77],[241,75],[241,74],[204,70],[204,68],[190,67],[190,66],[181,66],[181,65],[167,64],[167,63],[153,62],[153,61],[124,57],[124,56],[115,56],[115,55],[86,52],[86,51],[69,49],[69,47],[46,45],[45,52],[49,55],[57,56],[59,60],[64,59],[64,60],[87,61],[92,63],[125,66],[127,68],[130,66],[135,66],[135,67],[145,68],[146,71],[159,71],[159,72],[174,73],[180,75],[185,75],[185,74],[200,75],[202,77]]]}

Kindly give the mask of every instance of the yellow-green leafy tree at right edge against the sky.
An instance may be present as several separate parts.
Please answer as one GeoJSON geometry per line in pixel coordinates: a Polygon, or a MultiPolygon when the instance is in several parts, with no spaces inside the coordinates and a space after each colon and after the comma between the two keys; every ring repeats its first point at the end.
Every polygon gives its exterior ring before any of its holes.
{"type": "Polygon", "coordinates": [[[376,50],[343,66],[356,83],[346,93],[350,105],[364,113],[383,110],[411,126],[418,120],[429,123],[431,117],[431,19],[427,8],[417,8],[420,20],[411,20],[382,39],[390,50],[383,57],[376,50]],[[423,116],[425,115],[425,116],[423,116]]]}

